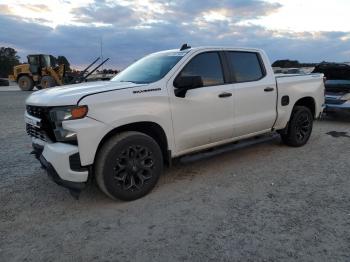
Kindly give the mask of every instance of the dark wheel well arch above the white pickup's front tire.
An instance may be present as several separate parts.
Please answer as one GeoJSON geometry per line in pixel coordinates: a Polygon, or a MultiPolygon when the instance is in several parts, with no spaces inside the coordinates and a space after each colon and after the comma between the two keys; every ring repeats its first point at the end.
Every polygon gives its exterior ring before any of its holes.
{"type": "Polygon", "coordinates": [[[110,137],[114,136],[115,134],[126,131],[137,131],[152,137],[158,143],[160,149],[162,150],[164,162],[167,165],[171,165],[171,154],[168,151],[168,140],[166,134],[163,128],[154,122],[136,122],[113,129],[103,137],[97,148],[97,152],[99,151],[103,143],[107,141],[110,137]]]}

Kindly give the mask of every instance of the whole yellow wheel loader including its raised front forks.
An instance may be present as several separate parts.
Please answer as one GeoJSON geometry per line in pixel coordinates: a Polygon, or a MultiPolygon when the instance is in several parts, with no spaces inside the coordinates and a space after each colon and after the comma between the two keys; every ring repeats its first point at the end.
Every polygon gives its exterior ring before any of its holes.
{"type": "Polygon", "coordinates": [[[77,84],[86,81],[87,77],[106,63],[109,58],[103,60],[92,71],[88,71],[100,58],[96,58],[88,67],[78,74],[67,72],[64,64],[58,64],[57,58],[52,55],[34,54],[27,56],[28,63],[14,66],[13,75],[9,80],[16,81],[23,91],[77,84]]]}

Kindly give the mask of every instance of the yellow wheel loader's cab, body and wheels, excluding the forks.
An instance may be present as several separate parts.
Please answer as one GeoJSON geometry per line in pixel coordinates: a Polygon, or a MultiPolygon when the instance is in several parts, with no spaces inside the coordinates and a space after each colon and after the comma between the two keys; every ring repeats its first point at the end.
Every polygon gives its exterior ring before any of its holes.
{"type": "Polygon", "coordinates": [[[65,65],[57,64],[52,55],[28,55],[28,63],[13,68],[9,80],[16,81],[23,91],[31,91],[34,86],[38,89],[64,84],[65,65]]]}

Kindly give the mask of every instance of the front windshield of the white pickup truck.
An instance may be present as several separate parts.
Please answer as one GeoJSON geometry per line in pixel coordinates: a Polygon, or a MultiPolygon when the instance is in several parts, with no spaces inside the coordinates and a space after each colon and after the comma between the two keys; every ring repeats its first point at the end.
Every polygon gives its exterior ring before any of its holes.
{"type": "Polygon", "coordinates": [[[120,72],[111,81],[149,84],[162,79],[187,52],[148,55],[120,72]]]}

